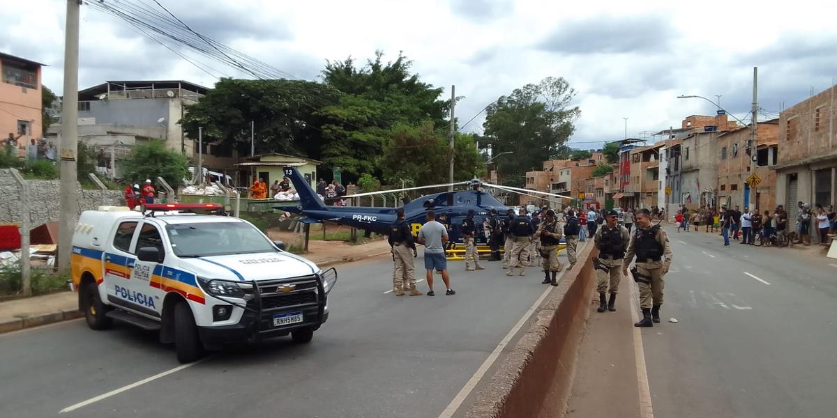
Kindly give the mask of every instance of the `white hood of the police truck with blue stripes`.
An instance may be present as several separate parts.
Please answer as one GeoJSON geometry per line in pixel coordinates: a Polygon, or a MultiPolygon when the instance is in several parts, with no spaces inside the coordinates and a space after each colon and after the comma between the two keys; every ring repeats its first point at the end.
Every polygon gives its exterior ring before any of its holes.
{"type": "Polygon", "coordinates": [[[259,252],[227,256],[182,258],[181,268],[203,278],[275,280],[317,273],[315,263],[290,252],[259,252]]]}

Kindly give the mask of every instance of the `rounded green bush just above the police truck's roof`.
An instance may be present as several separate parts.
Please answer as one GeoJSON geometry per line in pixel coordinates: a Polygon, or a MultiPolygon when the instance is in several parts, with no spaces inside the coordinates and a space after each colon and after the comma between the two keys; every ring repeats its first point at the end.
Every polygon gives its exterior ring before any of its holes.
{"type": "Polygon", "coordinates": [[[134,152],[123,161],[125,178],[131,182],[161,176],[174,188],[181,186],[188,173],[188,159],[177,151],[167,150],[162,140],[150,140],[134,146],[134,152]]]}

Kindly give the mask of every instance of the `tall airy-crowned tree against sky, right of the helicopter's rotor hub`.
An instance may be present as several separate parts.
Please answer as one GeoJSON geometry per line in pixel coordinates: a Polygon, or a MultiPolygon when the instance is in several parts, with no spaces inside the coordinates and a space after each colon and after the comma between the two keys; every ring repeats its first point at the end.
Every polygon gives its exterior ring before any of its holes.
{"type": "Polygon", "coordinates": [[[526,171],[567,151],[564,144],[581,113],[578,107],[569,107],[575,94],[565,79],[547,77],[501,96],[488,107],[481,144],[495,155],[515,151],[497,161],[502,181],[520,186],[526,171]]]}

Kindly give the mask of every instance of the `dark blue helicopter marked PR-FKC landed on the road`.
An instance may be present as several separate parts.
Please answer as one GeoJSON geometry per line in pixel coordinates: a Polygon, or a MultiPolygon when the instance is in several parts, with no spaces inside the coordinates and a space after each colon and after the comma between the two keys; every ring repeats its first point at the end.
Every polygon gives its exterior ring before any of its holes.
{"type": "MultiPolygon", "coordinates": [[[[302,222],[333,222],[338,225],[364,230],[368,237],[372,232],[386,235],[389,232],[390,226],[396,220],[397,208],[395,207],[326,206],[326,203],[320,196],[317,196],[316,192],[308,184],[305,177],[302,176],[300,171],[298,171],[295,167],[284,167],[283,173],[293,183],[296,192],[300,196],[300,201],[296,206],[275,206],[275,209],[303,215],[306,218],[304,218],[302,222]]],[[[469,211],[475,212],[475,222],[477,227],[480,229],[480,232],[482,230],[481,227],[483,219],[490,216],[490,211],[492,209],[496,210],[497,217],[505,217],[506,211],[509,209],[514,209],[515,214],[517,213],[516,208],[504,205],[501,201],[497,200],[495,196],[480,190],[482,188],[490,187],[500,191],[513,192],[536,198],[543,197],[534,196],[532,193],[559,197],[567,200],[572,199],[569,196],[547,193],[545,191],[531,191],[518,187],[493,185],[478,179],[450,184],[408,187],[371,193],[358,193],[355,195],[345,196],[345,198],[373,196],[382,193],[414,191],[447,186],[467,186],[468,189],[443,191],[421,196],[413,201],[405,201],[402,207],[404,209],[404,217],[410,225],[410,230],[413,232],[413,236],[418,235],[419,229],[421,229],[422,225],[424,225],[424,222],[427,222],[427,212],[429,210],[432,209],[436,212],[437,220],[439,220],[440,215],[445,215],[447,220],[444,223],[448,227],[449,249],[455,248],[456,244],[463,243],[460,226],[465,220],[465,217],[468,216],[469,211]]],[[[557,201],[553,202],[561,204],[557,201]]],[[[484,233],[477,233],[475,238],[478,245],[485,246],[488,243],[488,238],[485,237],[484,233]]]]}

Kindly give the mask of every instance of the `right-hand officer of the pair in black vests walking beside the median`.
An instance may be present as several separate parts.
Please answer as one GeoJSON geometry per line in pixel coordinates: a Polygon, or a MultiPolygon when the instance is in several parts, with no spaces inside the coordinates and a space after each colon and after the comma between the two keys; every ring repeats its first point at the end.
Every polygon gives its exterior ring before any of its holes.
{"type": "Polygon", "coordinates": [[[628,275],[628,266],[636,256],[636,266],[631,270],[639,286],[639,307],[642,319],[636,327],[652,327],[660,322],[660,306],[663,304],[663,276],[669,273],[671,247],[669,237],[660,224],[651,226],[648,209],[636,211],[636,231],[631,237],[628,251],[622,261],[622,273],[628,275]],[[651,300],[654,300],[652,306],[651,300]]]}

